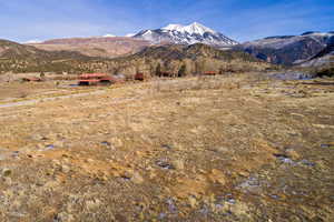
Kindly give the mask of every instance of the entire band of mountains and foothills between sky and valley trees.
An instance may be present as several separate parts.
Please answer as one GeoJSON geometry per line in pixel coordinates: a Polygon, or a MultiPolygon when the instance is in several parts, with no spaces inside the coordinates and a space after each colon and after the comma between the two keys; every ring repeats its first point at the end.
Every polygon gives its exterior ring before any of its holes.
{"type": "Polygon", "coordinates": [[[189,67],[194,67],[194,61],[200,57],[217,63],[215,70],[228,67],[224,62],[230,62],[230,57],[234,62],[239,57],[242,63],[258,63],[262,60],[283,65],[323,65],[334,60],[333,42],[334,32],[305,32],[301,36],[268,37],[238,43],[197,22],[188,26],[168,24],[160,29],[143,30],[131,37],[68,38],[27,44],[1,40],[0,71],[94,70],[94,67],[98,67],[91,65],[96,61],[110,61],[105,67],[116,69],[111,64],[117,63],[125,69],[124,64],[116,62],[119,61],[117,58],[127,63],[126,60],[134,58],[141,61],[140,57],[145,59],[143,63],[150,65],[156,65],[157,61],[179,64],[191,60],[189,67]],[[208,48],[198,47],[202,44],[208,48]],[[187,48],[189,46],[197,47],[187,48]],[[200,49],[200,53],[189,49],[200,49]],[[224,57],[222,51],[226,51],[224,57]],[[256,60],[250,60],[244,52],[256,60]],[[223,63],[218,60],[223,60],[223,63]]]}

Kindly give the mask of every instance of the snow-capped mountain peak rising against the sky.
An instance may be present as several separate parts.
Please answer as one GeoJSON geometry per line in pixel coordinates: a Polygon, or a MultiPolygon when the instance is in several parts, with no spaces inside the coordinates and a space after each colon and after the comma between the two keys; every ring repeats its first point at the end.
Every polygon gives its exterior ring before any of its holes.
{"type": "Polygon", "coordinates": [[[168,24],[161,29],[144,30],[134,36],[134,38],[148,40],[154,43],[204,43],[213,47],[232,47],[237,44],[236,41],[197,22],[189,26],[168,24]]]}

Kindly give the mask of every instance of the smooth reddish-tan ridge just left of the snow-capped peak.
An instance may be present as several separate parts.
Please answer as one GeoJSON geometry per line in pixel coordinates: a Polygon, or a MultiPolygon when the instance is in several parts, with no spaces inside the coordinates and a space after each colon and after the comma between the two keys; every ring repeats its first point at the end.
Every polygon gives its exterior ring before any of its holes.
{"type": "Polygon", "coordinates": [[[76,51],[88,57],[115,58],[131,54],[149,46],[150,42],[126,37],[53,39],[30,44],[48,51],[76,51]]]}

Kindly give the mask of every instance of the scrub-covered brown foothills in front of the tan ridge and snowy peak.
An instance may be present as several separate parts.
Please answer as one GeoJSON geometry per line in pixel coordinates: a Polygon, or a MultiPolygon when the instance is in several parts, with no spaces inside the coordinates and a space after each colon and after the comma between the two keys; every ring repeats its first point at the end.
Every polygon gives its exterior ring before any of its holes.
{"type": "MultiPolygon", "coordinates": [[[[205,71],[216,73],[265,70],[271,64],[250,54],[237,51],[218,50],[206,44],[167,44],[144,48],[141,51],[115,59],[84,56],[73,51],[46,51],[32,46],[2,41],[0,54],[1,72],[89,72],[102,71],[134,75],[143,72],[155,75],[157,69],[176,75],[181,67],[184,74],[205,71]],[[159,67],[159,68],[158,68],[159,67]]],[[[63,43],[53,41],[53,44],[63,43]]],[[[68,44],[71,41],[68,40],[68,44]]],[[[77,44],[76,42],[73,44],[77,44]]]]}

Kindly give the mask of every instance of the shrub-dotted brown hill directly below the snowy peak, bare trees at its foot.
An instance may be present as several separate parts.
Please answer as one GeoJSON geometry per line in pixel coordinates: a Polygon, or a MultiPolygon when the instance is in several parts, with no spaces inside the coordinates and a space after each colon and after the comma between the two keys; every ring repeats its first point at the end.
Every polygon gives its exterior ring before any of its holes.
{"type": "Polygon", "coordinates": [[[143,72],[155,75],[168,72],[176,75],[184,67],[184,74],[198,74],[206,71],[216,73],[265,70],[272,64],[255,59],[245,52],[222,51],[206,44],[168,44],[149,47],[143,51],[108,62],[111,72],[131,74],[143,72]]]}

